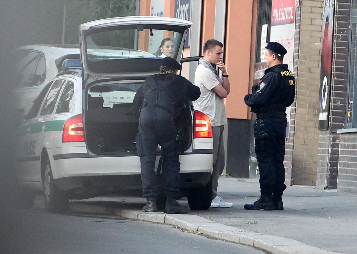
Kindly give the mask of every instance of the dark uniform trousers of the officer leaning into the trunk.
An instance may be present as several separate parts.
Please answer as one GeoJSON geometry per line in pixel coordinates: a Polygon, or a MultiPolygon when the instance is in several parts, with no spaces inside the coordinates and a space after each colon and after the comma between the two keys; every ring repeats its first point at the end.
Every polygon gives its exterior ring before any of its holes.
{"type": "Polygon", "coordinates": [[[160,191],[156,183],[156,148],[163,152],[162,184],[166,195],[177,198],[180,183],[180,161],[176,152],[176,127],[172,116],[164,109],[143,107],[140,112],[139,134],[136,146],[141,163],[143,196],[156,201],[160,191]]]}

